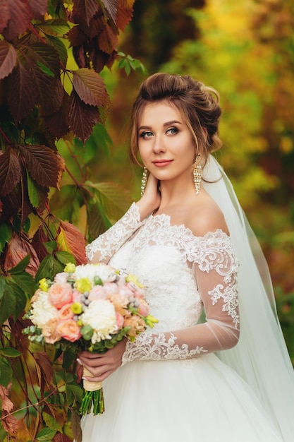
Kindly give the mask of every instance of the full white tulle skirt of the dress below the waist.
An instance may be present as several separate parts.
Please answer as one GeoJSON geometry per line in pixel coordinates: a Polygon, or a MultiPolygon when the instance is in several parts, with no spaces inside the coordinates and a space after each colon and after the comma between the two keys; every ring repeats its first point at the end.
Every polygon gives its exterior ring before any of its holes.
{"type": "MultiPolygon", "coordinates": [[[[83,442],[282,442],[249,386],[216,355],[133,361],[103,383],[83,442]]],[[[293,436],[294,437],[294,436],[293,436]]]]}

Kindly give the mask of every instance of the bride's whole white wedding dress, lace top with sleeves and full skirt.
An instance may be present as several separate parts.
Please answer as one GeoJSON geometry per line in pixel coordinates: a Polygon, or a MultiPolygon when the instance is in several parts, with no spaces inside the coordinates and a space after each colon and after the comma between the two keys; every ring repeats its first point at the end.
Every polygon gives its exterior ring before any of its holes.
{"type": "Polygon", "coordinates": [[[195,237],[167,215],[140,222],[133,203],[87,246],[89,261],[95,253],[139,277],[159,323],[128,342],[123,365],[103,382],[104,414],[82,417],[83,442],[290,441],[215,353],[238,347],[243,327],[227,234],[195,237]]]}

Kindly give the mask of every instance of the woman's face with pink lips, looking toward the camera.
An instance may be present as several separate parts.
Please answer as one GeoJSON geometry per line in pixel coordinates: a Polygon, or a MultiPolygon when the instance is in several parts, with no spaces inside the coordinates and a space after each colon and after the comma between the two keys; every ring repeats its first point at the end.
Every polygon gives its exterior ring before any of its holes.
{"type": "Polygon", "coordinates": [[[146,105],[138,125],[138,147],[143,164],[157,179],[190,179],[195,140],[173,105],[168,102],[146,105]]]}

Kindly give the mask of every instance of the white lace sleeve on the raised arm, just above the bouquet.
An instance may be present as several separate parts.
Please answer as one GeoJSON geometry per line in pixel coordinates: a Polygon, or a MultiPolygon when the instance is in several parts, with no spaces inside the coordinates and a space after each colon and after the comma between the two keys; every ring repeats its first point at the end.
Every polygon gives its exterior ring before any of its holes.
{"type": "Polygon", "coordinates": [[[133,203],[128,212],[123,215],[110,229],[86,246],[87,260],[92,263],[108,263],[123,243],[140,227],[140,210],[133,203]]]}

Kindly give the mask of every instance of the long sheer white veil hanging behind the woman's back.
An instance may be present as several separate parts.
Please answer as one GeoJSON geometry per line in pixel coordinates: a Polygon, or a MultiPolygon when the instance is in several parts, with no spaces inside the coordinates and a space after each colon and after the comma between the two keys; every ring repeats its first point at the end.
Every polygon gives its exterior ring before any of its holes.
{"type": "Polygon", "coordinates": [[[240,262],[240,340],[233,349],[218,356],[250,384],[276,421],[284,441],[293,441],[294,372],[276,315],[267,262],[231,181],[212,155],[203,177],[215,181],[204,181],[203,186],[223,212],[240,262]]]}

